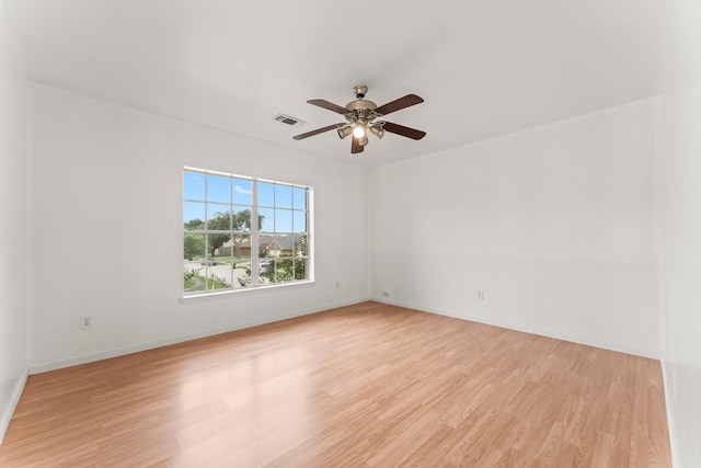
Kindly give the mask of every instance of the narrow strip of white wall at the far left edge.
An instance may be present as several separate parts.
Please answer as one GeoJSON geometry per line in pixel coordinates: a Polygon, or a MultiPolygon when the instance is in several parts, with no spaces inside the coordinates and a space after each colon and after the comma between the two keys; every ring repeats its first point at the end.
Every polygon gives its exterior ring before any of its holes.
{"type": "Polygon", "coordinates": [[[0,2],[0,442],[26,379],[24,85],[0,2]]]}

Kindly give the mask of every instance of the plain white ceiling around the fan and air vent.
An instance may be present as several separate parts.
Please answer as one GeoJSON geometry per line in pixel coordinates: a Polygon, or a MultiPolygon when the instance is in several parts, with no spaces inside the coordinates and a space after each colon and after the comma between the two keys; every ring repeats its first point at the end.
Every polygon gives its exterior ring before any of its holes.
{"type": "Polygon", "coordinates": [[[34,82],[368,167],[657,94],[663,2],[4,0],[34,82]],[[427,136],[292,140],[355,84],[427,136]]]}

